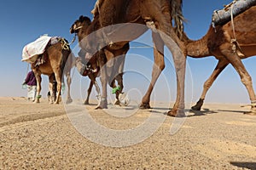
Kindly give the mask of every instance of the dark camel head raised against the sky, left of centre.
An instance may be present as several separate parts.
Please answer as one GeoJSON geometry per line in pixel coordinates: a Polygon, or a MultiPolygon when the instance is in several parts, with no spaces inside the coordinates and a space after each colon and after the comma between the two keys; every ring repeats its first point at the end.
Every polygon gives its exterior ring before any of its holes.
{"type": "Polygon", "coordinates": [[[70,27],[70,33],[79,33],[79,31],[84,28],[86,29],[86,26],[90,26],[90,18],[81,15],[79,17],[79,20],[76,20],[73,25],[70,27]]]}

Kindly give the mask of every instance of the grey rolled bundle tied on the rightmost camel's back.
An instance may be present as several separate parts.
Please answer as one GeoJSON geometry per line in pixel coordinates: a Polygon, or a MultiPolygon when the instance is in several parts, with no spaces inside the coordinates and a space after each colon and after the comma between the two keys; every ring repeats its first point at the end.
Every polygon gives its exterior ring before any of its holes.
{"type": "Polygon", "coordinates": [[[251,8],[256,5],[256,0],[244,1],[236,0],[232,3],[225,5],[223,9],[214,10],[212,14],[212,25],[213,26],[223,26],[231,20],[231,12],[233,16],[241,14],[246,11],[248,8],[251,8]]]}

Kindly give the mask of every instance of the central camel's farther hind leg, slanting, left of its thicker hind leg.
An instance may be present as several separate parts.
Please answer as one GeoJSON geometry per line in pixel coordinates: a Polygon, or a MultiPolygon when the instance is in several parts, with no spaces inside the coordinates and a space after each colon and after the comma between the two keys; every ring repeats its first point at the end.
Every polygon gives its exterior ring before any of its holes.
{"type": "Polygon", "coordinates": [[[165,68],[165,60],[164,60],[164,42],[161,40],[160,35],[153,32],[152,33],[153,41],[154,41],[154,65],[152,71],[151,82],[148,86],[147,93],[143,96],[142,103],[140,105],[140,109],[150,109],[150,96],[154,89],[154,84],[160,76],[161,71],[165,68]]]}

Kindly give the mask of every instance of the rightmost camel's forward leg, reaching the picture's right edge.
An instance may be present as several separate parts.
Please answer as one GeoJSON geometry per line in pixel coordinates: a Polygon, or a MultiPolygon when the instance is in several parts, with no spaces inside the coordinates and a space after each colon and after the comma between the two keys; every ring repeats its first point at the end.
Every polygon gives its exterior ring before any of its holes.
{"type": "Polygon", "coordinates": [[[230,60],[231,65],[236,69],[237,73],[241,78],[241,82],[247,88],[247,93],[251,100],[251,112],[256,113],[256,95],[253,89],[252,77],[247,72],[245,66],[242,64],[241,59],[237,54],[232,53],[231,50],[223,50],[223,53],[226,54],[226,58],[230,60]]]}

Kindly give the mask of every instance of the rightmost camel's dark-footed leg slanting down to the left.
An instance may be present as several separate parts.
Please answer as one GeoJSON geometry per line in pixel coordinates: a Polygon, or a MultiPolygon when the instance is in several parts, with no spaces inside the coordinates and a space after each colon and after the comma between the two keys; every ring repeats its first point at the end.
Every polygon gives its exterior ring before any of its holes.
{"type": "Polygon", "coordinates": [[[218,60],[218,64],[216,65],[214,71],[212,72],[212,75],[204,83],[204,88],[203,88],[200,99],[197,101],[196,105],[191,107],[192,110],[194,111],[201,110],[201,106],[203,105],[204,99],[206,98],[206,95],[207,95],[207,91],[209,90],[209,88],[212,87],[212,83],[216,80],[218,75],[222,71],[224,71],[224,68],[226,68],[227,65],[229,65],[229,61],[227,61],[226,59],[218,60]]]}

